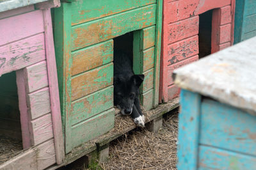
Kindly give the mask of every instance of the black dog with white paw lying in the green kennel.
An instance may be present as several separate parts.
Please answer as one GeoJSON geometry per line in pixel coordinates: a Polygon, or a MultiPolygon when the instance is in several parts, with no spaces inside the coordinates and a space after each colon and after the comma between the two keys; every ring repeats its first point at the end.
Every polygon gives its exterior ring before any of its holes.
{"type": "Polygon", "coordinates": [[[145,127],[145,117],[140,109],[139,89],[144,75],[132,70],[132,54],[114,51],[114,104],[124,115],[131,115],[134,123],[145,127]]]}

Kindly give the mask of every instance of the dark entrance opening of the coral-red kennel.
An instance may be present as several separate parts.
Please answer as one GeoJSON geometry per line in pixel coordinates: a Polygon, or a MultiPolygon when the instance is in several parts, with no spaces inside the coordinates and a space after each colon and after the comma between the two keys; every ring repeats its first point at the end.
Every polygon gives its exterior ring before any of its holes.
{"type": "Polygon", "coordinates": [[[211,54],[212,10],[199,15],[199,59],[211,54]]]}

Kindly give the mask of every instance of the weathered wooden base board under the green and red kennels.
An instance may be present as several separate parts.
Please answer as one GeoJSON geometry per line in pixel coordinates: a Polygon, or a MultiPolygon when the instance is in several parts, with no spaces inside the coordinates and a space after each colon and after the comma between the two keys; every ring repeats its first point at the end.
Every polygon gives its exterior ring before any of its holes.
{"type": "MultiPolygon", "coordinates": [[[[155,120],[156,118],[159,118],[159,116],[163,116],[163,114],[166,114],[167,112],[170,112],[177,107],[179,107],[179,98],[174,98],[166,104],[160,104],[158,107],[156,107],[156,109],[152,109],[144,113],[146,117],[146,123],[155,120]]],[[[81,144],[77,148],[74,148],[72,151],[70,151],[70,153],[65,155],[65,160],[62,164],[55,164],[54,166],[49,167],[48,170],[53,170],[57,169],[58,167],[66,166],[67,164],[74,162],[78,158],[81,158],[84,155],[87,155],[88,153],[92,153],[92,151],[97,150],[97,148],[100,148],[110,143],[111,141],[117,139],[121,135],[124,135],[127,132],[136,128],[136,125],[134,123],[129,125],[117,123],[121,119],[129,119],[129,117],[119,116],[119,114],[117,114],[116,112],[115,127],[118,126],[118,128],[122,130],[116,131],[115,128],[113,128],[113,130],[109,131],[107,134],[102,135],[88,143],[81,144]]],[[[132,122],[132,120],[130,120],[130,122],[132,122]]]]}

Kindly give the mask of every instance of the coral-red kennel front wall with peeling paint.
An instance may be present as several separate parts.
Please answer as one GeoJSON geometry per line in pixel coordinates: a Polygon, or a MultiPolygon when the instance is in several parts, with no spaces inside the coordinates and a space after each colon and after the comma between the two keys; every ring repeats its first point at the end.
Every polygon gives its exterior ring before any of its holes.
{"type": "MultiPolygon", "coordinates": [[[[173,70],[198,60],[200,50],[205,50],[199,47],[199,15],[209,10],[212,10],[211,53],[232,44],[234,0],[163,1],[159,102],[179,96],[180,90],[172,80],[173,70]]],[[[205,33],[201,34],[204,39],[205,33]]]]}

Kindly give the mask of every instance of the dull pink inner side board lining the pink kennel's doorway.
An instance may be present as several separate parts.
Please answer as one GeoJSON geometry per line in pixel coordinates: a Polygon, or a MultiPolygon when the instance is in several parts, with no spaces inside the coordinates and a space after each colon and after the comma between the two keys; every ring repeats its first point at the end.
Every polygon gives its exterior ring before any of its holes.
{"type": "Polygon", "coordinates": [[[20,126],[22,128],[22,146],[23,149],[28,149],[31,146],[30,134],[29,134],[29,116],[28,116],[28,104],[26,100],[26,73],[25,70],[16,71],[16,82],[19,97],[19,109],[20,109],[20,126]]]}

